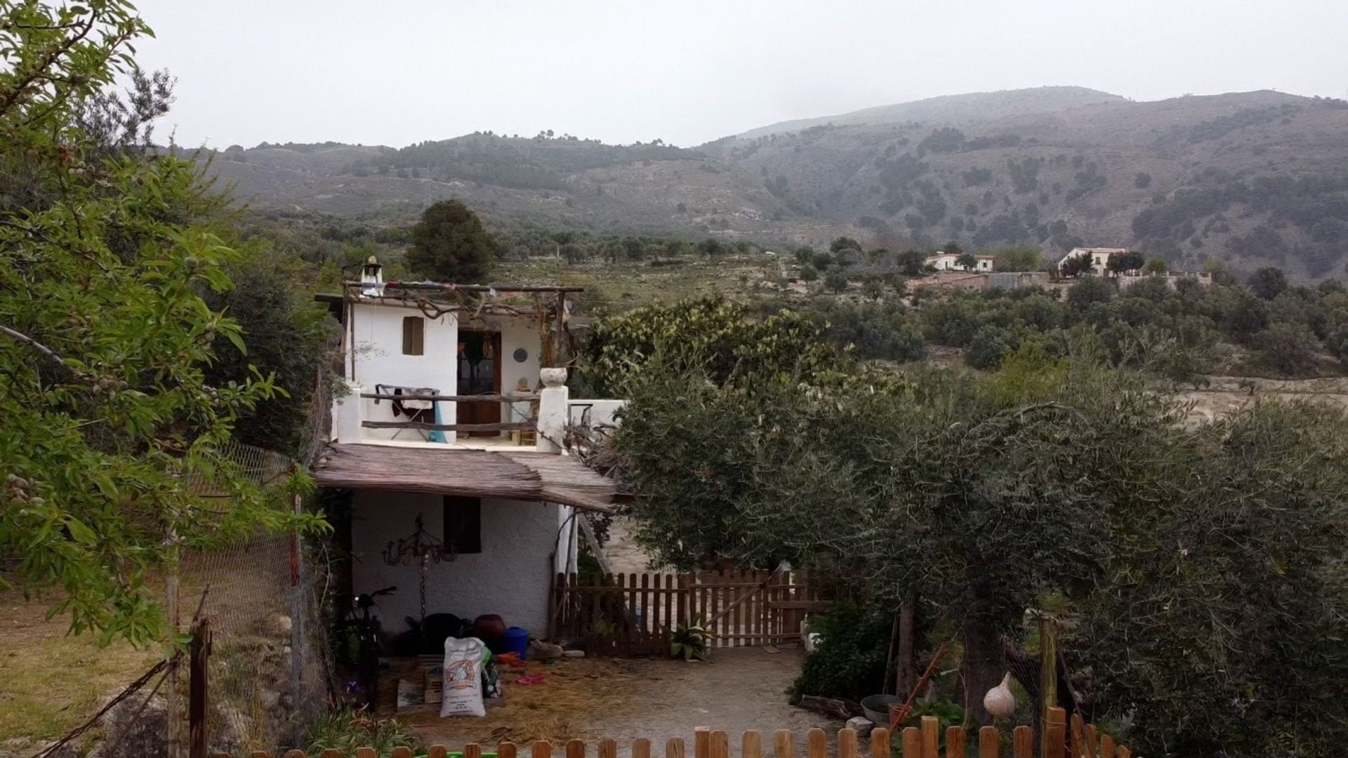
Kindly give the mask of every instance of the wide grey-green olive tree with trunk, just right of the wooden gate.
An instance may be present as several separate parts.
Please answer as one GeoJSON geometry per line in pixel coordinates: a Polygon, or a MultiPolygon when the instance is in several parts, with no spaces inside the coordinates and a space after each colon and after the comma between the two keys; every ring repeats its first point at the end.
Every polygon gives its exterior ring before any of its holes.
{"type": "Polygon", "coordinates": [[[1046,593],[1091,587],[1108,554],[1113,503],[1082,472],[1126,469],[1170,419],[1124,375],[1010,371],[736,387],[665,374],[631,395],[613,438],[636,537],[675,565],[828,560],[891,607],[915,591],[960,637],[985,720],[1003,637],[1046,593]]]}

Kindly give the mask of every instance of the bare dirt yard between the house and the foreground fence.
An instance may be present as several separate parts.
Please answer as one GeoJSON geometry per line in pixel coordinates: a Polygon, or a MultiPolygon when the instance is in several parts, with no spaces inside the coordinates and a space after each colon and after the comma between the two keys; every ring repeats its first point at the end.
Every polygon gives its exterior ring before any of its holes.
{"type": "Polygon", "coordinates": [[[802,661],[801,650],[745,647],[716,650],[712,661],[702,664],[594,658],[531,665],[530,672],[545,673],[545,682],[526,687],[503,677],[504,697],[488,701],[485,719],[441,719],[430,707],[398,718],[411,723],[426,743],[450,750],[468,742],[593,742],[607,736],[627,755],[631,740],[644,736],[658,746],[654,753],[662,754],[665,740],[675,736],[692,750],[693,730],[700,726],[732,735],[759,730],[768,743],[774,731],[791,730],[803,750],[810,727],[840,724],[787,704],[786,691],[802,661]]]}

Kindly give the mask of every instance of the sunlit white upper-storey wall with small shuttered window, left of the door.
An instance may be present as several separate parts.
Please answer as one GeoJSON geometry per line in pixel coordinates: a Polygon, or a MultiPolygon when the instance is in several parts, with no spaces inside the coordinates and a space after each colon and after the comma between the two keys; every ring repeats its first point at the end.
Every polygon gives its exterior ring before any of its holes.
{"type": "MultiPolygon", "coordinates": [[[[352,303],[350,325],[352,349],[348,351],[348,371],[361,386],[363,392],[373,392],[375,384],[398,384],[402,387],[435,387],[445,395],[453,395],[458,387],[458,324],[453,314],[439,318],[426,318],[422,355],[403,355],[403,318],[423,316],[415,308],[395,308],[388,305],[352,303]]],[[[369,421],[407,421],[406,415],[394,418],[390,401],[365,399],[365,418],[369,421]]],[[[454,422],[454,403],[441,403],[441,415],[446,424],[454,422]]],[[[421,432],[399,429],[365,429],[367,438],[373,440],[423,440],[421,432]],[[396,437],[395,437],[396,434],[396,437]]],[[[454,440],[453,432],[446,432],[448,441],[454,440]]]]}

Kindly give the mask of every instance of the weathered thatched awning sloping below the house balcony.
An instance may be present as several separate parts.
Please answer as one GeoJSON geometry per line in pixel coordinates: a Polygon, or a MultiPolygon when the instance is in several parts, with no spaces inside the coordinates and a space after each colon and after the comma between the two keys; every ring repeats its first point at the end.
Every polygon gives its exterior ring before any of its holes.
{"type": "Polygon", "coordinates": [[[572,456],[524,450],[332,445],[314,467],[319,487],[465,498],[546,500],[609,511],[613,483],[572,456]]]}

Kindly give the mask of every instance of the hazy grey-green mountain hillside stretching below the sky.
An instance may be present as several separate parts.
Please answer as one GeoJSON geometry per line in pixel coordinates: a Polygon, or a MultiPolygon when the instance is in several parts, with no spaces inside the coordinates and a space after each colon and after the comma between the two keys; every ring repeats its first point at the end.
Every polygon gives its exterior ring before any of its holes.
{"type": "Polygon", "coordinates": [[[787,121],[685,150],[479,132],[400,150],[232,147],[255,208],[406,223],[458,197],[488,218],[597,233],[818,244],[1132,245],[1294,276],[1344,274],[1348,103],[1248,92],[1134,103],[1084,88],[961,94],[787,121]]]}

